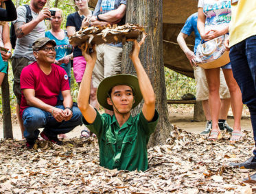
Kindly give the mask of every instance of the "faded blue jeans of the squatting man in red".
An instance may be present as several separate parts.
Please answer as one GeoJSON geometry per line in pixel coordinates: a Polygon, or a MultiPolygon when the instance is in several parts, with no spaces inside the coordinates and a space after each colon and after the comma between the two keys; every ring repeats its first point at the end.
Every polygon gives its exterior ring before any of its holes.
{"type": "MultiPolygon", "coordinates": [[[[64,109],[62,105],[56,107],[64,109]]],[[[72,107],[72,111],[71,120],[57,122],[51,113],[35,107],[28,107],[22,115],[25,127],[24,137],[27,141],[35,141],[40,133],[38,128],[44,128],[44,133],[51,138],[57,138],[58,134],[69,133],[75,126],[82,124],[82,113],[78,107],[72,107]]]]}

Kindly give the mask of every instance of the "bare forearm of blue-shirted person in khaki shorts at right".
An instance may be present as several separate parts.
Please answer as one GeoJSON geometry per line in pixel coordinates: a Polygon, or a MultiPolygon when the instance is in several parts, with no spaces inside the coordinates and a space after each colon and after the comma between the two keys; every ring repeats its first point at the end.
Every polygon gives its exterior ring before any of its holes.
{"type": "Polygon", "coordinates": [[[187,34],[180,32],[177,37],[178,45],[180,45],[181,49],[187,56],[187,59],[189,59],[189,63],[191,64],[191,66],[196,66],[196,61],[195,61],[196,55],[194,54],[193,51],[189,49],[189,47],[187,47],[187,44],[185,42],[186,38],[187,38],[187,34]]]}

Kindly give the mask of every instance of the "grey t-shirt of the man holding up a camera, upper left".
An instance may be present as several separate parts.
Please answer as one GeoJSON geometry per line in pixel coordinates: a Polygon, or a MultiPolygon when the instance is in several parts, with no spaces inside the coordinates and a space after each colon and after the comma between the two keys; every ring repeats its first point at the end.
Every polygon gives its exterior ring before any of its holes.
{"type": "MultiPolygon", "coordinates": [[[[32,10],[31,12],[34,20],[38,16],[38,14],[36,14],[36,12],[33,12],[32,10]]],[[[27,10],[25,6],[19,6],[19,8],[17,8],[17,19],[14,20],[12,23],[14,24],[17,22],[26,23],[26,14],[27,14],[27,10]]],[[[45,29],[46,29],[45,21],[42,20],[26,36],[23,36],[23,38],[17,38],[13,57],[16,57],[16,58],[26,57],[27,59],[30,59],[30,61],[35,61],[33,50],[32,50],[32,44],[38,38],[45,37],[45,29]]]]}

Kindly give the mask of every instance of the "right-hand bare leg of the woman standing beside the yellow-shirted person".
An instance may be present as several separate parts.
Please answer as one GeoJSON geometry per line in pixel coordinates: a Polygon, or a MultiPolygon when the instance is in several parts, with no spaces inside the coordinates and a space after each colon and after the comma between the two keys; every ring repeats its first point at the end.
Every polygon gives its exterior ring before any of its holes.
{"type": "Polygon", "coordinates": [[[243,109],[241,90],[233,77],[233,72],[231,69],[224,69],[223,73],[226,79],[226,84],[229,87],[229,92],[231,96],[231,108],[234,115],[234,131],[240,132],[241,130],[240,121],[241,121],[242,109],[243,109]]]}

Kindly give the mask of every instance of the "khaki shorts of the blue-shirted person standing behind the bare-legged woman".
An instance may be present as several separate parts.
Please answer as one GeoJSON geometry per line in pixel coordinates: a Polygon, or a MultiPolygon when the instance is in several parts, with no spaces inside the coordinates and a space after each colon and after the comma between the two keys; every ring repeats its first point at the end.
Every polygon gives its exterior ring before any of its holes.
{"type": "MultiPolygon", "coordinates": [[[[194,67],[194,76],[196,80],[196,100],[208,100],[209,90],[205,70],[199,66],[194,67]]],[[[229,87],[226,85],[224,74],[220,68],[220,98],[230,98],[229,87]]]]}

